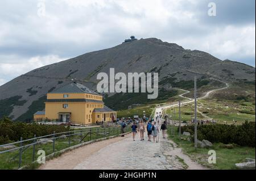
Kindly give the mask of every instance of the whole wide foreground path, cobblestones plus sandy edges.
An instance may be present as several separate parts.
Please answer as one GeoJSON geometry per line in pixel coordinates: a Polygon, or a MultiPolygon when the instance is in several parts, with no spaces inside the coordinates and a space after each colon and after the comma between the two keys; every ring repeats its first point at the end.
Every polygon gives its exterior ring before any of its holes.
{"type": "MultiPolygon", "coordinates": [[[[156,108],[155,112],[162,112],[156,108]]],[[[156,115],[155,115],[156,116],[156,115]]],[[[64,153],[58,158],[48,161],[39,169],[205,169],[191,161],[182,153],[176,144],[167,138],[159,142],[140,141],[137,133],[135,141],[132,135],[117,137],[110,140],[96,142],[64,153]]]]}

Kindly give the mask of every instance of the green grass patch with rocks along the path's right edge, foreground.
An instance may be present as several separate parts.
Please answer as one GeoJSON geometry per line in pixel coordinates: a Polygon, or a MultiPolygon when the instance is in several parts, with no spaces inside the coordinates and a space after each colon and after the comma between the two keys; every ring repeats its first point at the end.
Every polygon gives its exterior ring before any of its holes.
{"type": "MultiPolygon", "coordinates": [[[[169,133],[170,133],[170,127],[169,133]]],[[[171,136],[169,134],[169,138],[173,140],[180,148],[182,148],[183,152],[187,154],[193,161],[204,165],[210,169],[218,169],[218,170],[232,170],[236,169],[235,163],[243,162],[245,158],[253,158],[255,159],[255,148],[237,146],[234,145],[234,148],[222,148],[221,143],[214,143],[212,148],[197,148],[195,149],[193,143],[191,141],[187,141],[186,136],[181,136],[181,140],[179,141],[179,135],[177,132],[177,128],[175,128],[174,135],[171,136]],[[208,151],[214,150],[216,151],[216,164],[208,163],[208,151]]]]}

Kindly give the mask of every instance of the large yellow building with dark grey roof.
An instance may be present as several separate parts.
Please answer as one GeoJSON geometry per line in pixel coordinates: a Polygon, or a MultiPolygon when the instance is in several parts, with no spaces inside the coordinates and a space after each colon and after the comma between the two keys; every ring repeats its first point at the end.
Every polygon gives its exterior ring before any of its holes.
{"type": "MultiPolygon", "coordinates": [[[[47,94],[44,119],[73,124],[91,124],[113,121],[117,112],[104,105],[102,96],[76,82],[69,83],[47,94]]],[[[42,119],[42,112],[34,120],[42,119]]]]}

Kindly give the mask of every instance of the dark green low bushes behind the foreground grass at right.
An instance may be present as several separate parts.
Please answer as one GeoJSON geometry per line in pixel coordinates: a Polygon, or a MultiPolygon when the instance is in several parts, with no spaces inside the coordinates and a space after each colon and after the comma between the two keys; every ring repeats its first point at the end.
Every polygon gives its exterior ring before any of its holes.
{"type": "MultiPolygon", "coordinates": [[[[181,127],[181,133],[189,132],[192,137],[194,125],[181,127]]],[[[255,147],[255,122],[245,122],[242,125],[210,124],[197,127],[198,140],[237,144],[255,147]]]]}

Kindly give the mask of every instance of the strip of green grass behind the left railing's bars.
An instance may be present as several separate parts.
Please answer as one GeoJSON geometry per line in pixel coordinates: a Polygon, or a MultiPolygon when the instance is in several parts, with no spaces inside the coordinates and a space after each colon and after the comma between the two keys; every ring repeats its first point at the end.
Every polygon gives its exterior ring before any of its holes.
{"type": "MultiPolygon", "coordinates": [[[[79,135],[73,135],[70,136],[70,146],[74,146],[77,144],[80,144],[81,137],[83,138],[88,132],[90,128],[81,129],[82,136],[79,135]]],[[[126,127],[126,132],[128,131],[128,127],[126,127]]],[[[113,128],[92,128],[92,135],[90,137],[90,134],[84,138],[82,142],[87,142],[90,140],[96,140],[98,138],[103,137],[109,137],[109,136],[115,136],[121,133],[120,127],[113,127],[113,128]],[[98,130],[98,132],[97,132],[98,130]]],[[[60,135],[59,135],[60,136],[60,135]]],[[[55,140],[55,152],[63,150],[65,148],[69,147],[68,144],[68,137],[67,138],[56,138],[55,140]]],[[[18,145],[16,145],[18,146],[18,145]]],[[[46,155],[52,154],[53,152],[53,143],[47,143],[47,144],[37,144],[35,145],[35,160],[39,155],[37,155],[38,150],[44,150],[46,151],[46,155]]],[[[33,147],[30,146],[22,153],[22,165],[26,166],[26,169],[35,169],[36,167],[40,166],[38,163],[32,163],[32,154],[33,153],[33,147]]],[[[59,153],[55,153],[54,157],[57,157],[60,155],[59,153]]],[[[52,157],[53,158],[53,157],[52,157]]],[[[0,154],[0,170],[10,170],[10,169],[18,169],[19,165],[19,150],[2,153],[0,154]]]]}

